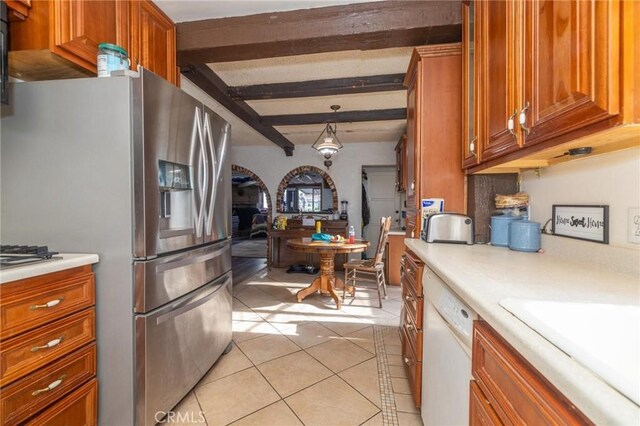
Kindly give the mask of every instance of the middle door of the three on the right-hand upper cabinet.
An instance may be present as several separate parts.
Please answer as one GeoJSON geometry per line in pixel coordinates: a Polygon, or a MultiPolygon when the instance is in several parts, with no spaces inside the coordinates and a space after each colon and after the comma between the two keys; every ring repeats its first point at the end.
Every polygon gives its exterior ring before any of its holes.
{"type": "Polygon", "coordinates": [[[477,58],[482,70],[477,80],[480,85],[480,144],[482,159],[489,160],[518,149],[515,129],[509,130],[508,126],[509,120],[516,118],[516,2],[482,0],[476,7],[479,13],[477,58]]]}

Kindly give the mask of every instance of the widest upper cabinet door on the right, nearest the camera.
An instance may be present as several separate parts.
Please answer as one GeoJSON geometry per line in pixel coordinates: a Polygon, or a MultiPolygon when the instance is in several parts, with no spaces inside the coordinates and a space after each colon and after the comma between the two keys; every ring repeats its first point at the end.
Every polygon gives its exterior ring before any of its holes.
{"type": "Polygon", "coordinates": [[[523,8],[524,99],[518,108],[524,108],[520,120],[526,117],[520,121],[525,145],[617,115],[619,2],[534,0],[523,8]]]}

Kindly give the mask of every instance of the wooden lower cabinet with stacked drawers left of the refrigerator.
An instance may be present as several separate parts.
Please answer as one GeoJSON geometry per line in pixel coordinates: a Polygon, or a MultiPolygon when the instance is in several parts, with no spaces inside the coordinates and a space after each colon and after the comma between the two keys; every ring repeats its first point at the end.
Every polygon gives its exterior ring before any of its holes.
{"type": "Polygon", "coordinates": [[[0,286],[0,424],[97,423],[94,287],[90,265],[0,286]]]}

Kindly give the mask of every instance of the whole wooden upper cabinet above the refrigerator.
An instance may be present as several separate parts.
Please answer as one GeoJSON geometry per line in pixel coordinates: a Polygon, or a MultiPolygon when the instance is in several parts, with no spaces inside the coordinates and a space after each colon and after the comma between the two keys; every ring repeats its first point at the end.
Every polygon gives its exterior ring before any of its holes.
{"type": "Polygon", "coordinates": [[[98,45],[127,50],[138,64],[176,84],[176,26],[149,0],[31,2],[12,22],[10,74],[23,80],[95,76],[98,45]]]}

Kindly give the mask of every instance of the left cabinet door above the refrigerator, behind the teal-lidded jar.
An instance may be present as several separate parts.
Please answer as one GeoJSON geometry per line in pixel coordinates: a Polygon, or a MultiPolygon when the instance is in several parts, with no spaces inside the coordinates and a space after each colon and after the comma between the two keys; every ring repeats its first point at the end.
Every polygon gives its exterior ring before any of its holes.
{"type": "Polygon", "coordinates": [[[128,13],[124,1],[53,0],[52,51],[96,72],[98,44],[128,45],[128,13]]]}

